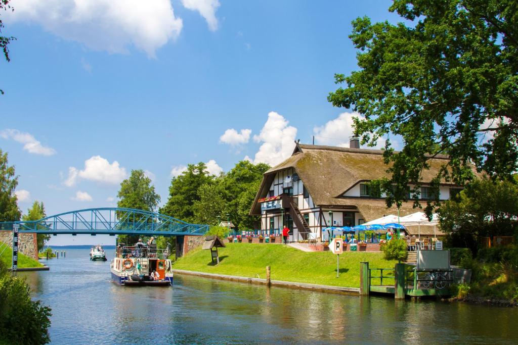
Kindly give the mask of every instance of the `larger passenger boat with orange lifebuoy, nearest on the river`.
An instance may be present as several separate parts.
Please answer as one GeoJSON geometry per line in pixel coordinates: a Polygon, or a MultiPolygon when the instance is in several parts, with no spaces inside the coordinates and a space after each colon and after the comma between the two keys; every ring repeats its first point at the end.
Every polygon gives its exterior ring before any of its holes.
{"type": "Polygon", "coordinates": [[[118,246],[111,261],[111,280],[123,286],[170,287],[172,286],[172,262],[167,259],[168,249],[154,246],[118,246]],[[156,271],[158,279],[152,279],[156,271]]]}

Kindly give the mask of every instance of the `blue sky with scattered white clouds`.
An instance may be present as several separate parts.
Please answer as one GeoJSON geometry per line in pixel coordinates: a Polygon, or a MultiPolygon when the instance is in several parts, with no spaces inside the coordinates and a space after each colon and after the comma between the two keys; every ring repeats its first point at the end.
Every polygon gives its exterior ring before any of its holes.
{"type": "Polygon", "coordinates": [[[347,147],[361,115],[327,95],[335,73],[357,69],[351,21],[397,22],[390,4],[11,0],[0,13],[3,35],[17,38],[0,59],[0,149],[19,175],[19,207],[116,206],[133,169],[163,205],[189,163],[212,174],[243,159],[275,165],[313,136],[347,147]]]}

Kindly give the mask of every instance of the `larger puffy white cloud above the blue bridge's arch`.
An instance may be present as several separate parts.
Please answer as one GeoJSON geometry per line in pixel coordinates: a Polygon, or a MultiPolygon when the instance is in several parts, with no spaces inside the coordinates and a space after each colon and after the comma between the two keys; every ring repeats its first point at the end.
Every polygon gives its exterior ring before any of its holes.
{"type": "Polygon", "coordinates": [[[84,161],[84,169],[78,170],[74,167],[68,168],[68,178],[63,182],[65,186],[74,186],[79,178],[89,181],[103,182],[109,184],[121,183],[126,178],[126,169],[120,167],[119,162],[113,163],[101,157],[93,156],[84,161]]]}

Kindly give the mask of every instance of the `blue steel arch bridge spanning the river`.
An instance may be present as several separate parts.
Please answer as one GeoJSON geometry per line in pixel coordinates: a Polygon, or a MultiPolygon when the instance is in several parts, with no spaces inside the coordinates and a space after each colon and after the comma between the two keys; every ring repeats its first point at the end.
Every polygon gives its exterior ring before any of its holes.
{"type": "Polygon", "coordinates": [[[39,220],[0,222],[0,230],[12,230],[19,224],[20,233],[202,236],[207,224],[192,224],[159,213],[134,208],[102,207],[70,211],[39,220]]]}

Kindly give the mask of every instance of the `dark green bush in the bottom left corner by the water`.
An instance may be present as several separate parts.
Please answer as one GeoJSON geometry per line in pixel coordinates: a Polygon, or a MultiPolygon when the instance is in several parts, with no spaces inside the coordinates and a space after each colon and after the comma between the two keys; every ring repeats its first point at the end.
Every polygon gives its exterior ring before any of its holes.
{"type": "Polygon", "coordinates": [[[8,274],[0,262],[0,342],[46,344],[50,342],[51,309],[32,301],[28,284],[8,274]]]}

